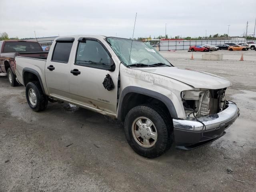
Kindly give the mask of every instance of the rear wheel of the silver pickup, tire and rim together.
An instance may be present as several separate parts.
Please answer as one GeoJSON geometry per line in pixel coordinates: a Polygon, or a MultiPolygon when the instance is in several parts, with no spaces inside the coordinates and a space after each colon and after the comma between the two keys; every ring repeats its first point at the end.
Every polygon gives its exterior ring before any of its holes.
{"type": "Polygon", "coordinates": [[[45,110],[48,105],[47,96],[44,95],[38,82],[28,82],[26,85],[26,99],[28,106],[36,112],[45,110]]]}

